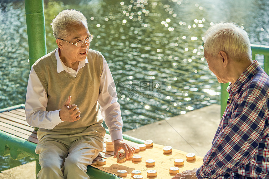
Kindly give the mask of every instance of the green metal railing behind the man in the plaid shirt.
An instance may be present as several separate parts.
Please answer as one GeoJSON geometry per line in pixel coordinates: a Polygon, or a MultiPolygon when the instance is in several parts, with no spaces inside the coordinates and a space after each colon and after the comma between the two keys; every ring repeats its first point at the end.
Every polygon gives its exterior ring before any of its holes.
{"type": "MultiPolygon", "coordinates": [[[[264,56],[263,69],[268,74],[269,73],[269,46],[251,44],[251,51],[252,51],[252,60],[255,60],[256,54],[264,56]]],[[[226,109],[227,101],[229,97],[229,94],[226,91],[228,85],[229,83],[221,84],[221,117],[226,109]]]]}

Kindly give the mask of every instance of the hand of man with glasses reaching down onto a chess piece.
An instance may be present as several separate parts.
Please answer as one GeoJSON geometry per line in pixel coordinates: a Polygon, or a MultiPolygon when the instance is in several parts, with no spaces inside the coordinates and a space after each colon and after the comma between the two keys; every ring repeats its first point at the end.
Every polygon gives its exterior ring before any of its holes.
{"type": "Polygon", "coordinates": [[[114,140],[113,144],[114,144],[114,149],[115,149],[114,158],[117,157],[119,150],[122,148],[125,151],[125,158],[126,159],[128,159],[134,155],[135,148],[130,146],[129,144],[123,142],[122,140],[120,140],[120,139],[114,140]]]}

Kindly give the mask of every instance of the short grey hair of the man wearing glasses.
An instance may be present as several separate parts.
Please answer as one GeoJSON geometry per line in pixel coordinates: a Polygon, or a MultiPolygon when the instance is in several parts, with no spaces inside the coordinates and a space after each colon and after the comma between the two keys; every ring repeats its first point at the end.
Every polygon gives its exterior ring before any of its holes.
{"type": "Polygon", "coordinates": [[[55,39],[65,38],[68,36],[69,27],[82,24],[82,22],[87,26],[87,19],[81,12],[73,9],[63,10],[51,21],[53,36],[55,39]]]}

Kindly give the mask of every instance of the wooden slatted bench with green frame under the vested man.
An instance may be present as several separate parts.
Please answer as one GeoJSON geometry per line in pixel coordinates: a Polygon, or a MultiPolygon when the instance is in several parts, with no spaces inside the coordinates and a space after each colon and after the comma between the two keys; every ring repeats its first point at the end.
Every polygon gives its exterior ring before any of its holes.
{"type": "MultiPolygon", "coordinates": [[[[123,135],[124,141],[133,146],[145,141],[123,135]]],[[[110,139],[109,131],[106,129],[105,139],[110,139]]],[[[24,104],[0,110],[0,155],[11,155],[13,159],[33,157],[36,160],[36,174],[40,170],[39,155],[35,153],[38,143],[37,132],[34,127],[29,126],[25,118],[24,104]]],[[[105,145],[104,145],[105,146],[105,145]]],[[[105,149],[94,159],[112,157],[114,152],[107,152],[105,149]]],[[[87,174],[90,178],[119,178],[115,175],[100,171],[88,166],[87,174]]]]}

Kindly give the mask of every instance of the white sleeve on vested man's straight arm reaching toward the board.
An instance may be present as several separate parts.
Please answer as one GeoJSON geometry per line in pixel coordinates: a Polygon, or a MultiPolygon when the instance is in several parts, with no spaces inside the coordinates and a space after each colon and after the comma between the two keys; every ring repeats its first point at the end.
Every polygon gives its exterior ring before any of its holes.
{"type": "Polygon", "coordinates": [[[118,103],[117,92],[109,66],[103,56],[103,70],[99,87],[98,102],[104,122],[109,129],[111,140],[123,140],[122,117],[118,103]]]}

